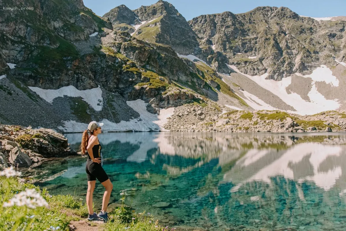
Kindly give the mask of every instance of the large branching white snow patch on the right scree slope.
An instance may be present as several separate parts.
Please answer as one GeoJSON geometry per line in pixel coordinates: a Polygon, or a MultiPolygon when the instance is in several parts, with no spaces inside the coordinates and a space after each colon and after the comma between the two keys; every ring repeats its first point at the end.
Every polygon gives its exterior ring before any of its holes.
{"type": "MultiPolygon", "coordinates": [[[[286,92],[286,88],[291,84],[291,81],[292,81],[291,76],[283,78],[281,81],[275,81],[272,79],[265,79],[268,76],[268,73],[265,73],[261,76],[251,76],[251,75],[240,72],[234,65],[227,64],[227,66],[230,69],[233,69],[234,71],[240,74],[243,74],[247,78],[253,80],[264,89],[272,92],[274,95],[282,99],[282,101],[292,106],[296,110],[296,111],[287,111],[289,113],[296,113],[299,115],[313,115],[313,114],[317,114],[327,110],[336,110],[340,106],[340,104],[337,102],[337,99],[327,100],[320,92],[317,91],[317,87],[315,85],[316,81],[324,81],[326,83],[329,83],[331,86],[335,86],[335,87],[339,86],[339,80],[333,75],[333,72],[331,72],[331,70],[328,69],[327,66],[325,65],[321,65],[309,75],[301,75],[298,73],[298,75],[304,78],[312,79],[312,88],[310,92],[308,93],[310,102],[305,101],[304,99],[301,98],[300,95],[298,95],[295,92],[291,92],[291,94],[288,94],[286,92]]],[[[263,105],[262,103],[257,101],[255,98],[253,97],[250,97],[250,98],[252,99],[252,101],[259,103],[260,105],[263,105]]]]}

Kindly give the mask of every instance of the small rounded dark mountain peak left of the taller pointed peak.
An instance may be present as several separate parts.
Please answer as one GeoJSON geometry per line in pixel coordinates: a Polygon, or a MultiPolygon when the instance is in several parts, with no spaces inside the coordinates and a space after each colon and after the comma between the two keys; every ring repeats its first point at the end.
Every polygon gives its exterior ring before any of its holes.
{"type": "Polygon", "coordinates": [[[108,18],[113,25],[121,23],[126,23],[128,25],[139,23],[135,13],[125,5],[120,5],[111,9],[104,14],[103,17],[108,18]]]}

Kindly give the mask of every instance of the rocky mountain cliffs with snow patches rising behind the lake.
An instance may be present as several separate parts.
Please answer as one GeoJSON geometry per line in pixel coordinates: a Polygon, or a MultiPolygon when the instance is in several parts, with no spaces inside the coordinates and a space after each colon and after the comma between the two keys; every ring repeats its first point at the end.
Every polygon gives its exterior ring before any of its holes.
{"type": "Polygon", "coordinates": [[[185,104],[207,106],[206,117],[346,109],[343,17],[317,21],[258,7],[187,22],[165,1],[121,5],[103,17],[82,1],[30,4],[34,10],[0,15],[5,124],[81,132],[96,120],[108,131],[163,131],[179,129],[164,124],[184,118],[177,107],[185,104]]]}

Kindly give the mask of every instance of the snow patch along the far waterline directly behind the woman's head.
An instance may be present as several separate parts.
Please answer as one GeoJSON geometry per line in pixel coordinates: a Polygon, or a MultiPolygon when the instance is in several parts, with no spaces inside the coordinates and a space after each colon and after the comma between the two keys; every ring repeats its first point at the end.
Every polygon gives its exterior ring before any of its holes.
{"type": "MultiPolygon", "coordinates": [[[[168,131],[162,126],[167,122],[167,118],[173,115],[174,108],[161,109],[160,115],[156,115],[147,111],[147,103],[141,99],[126,101],[126,103],[136,112],[138,112],[140,116],[138,118],[130,119],[129,121],[120,121],[119,123],[111,122],[108,119],[102,119],[101,123],[104,123],[104,126],[102,126],[102,131],[168,131]]],[[[63,123],[64,126],[60,126],[58,128],[65,132],[83,132],[88,127],[88,124],[71,120],[63,121],[63,123]]]]}

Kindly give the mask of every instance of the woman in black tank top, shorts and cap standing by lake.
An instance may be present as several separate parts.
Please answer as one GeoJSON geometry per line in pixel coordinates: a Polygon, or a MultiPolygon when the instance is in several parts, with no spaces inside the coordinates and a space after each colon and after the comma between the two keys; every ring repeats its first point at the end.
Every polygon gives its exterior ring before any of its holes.
{"type": "Polygon", "coordinates": [[[110,193],[112,192],[113,185],[110,182],[106,172],[101,166],[101,144],[98,135],[101,134],[101,126],[103,123],[92,121],[88,125],[88,129],[83,132],[81,150],[82,153],[88,153],[88,160],[86,161],[86,175],[88,177],[88,191],[86,192],[86,205],[88,206],[89,216],[88,220],[101,218],[105,222],[108,220],[107,206],[109,202],[110,193]],[[88,135],[90,133],[90,136],[88,135]],[[102,210],[99,214],[94,213],[92,208],[92,194],[95,189],[96,179],[106,188],[103,194],[102,210]]]}

